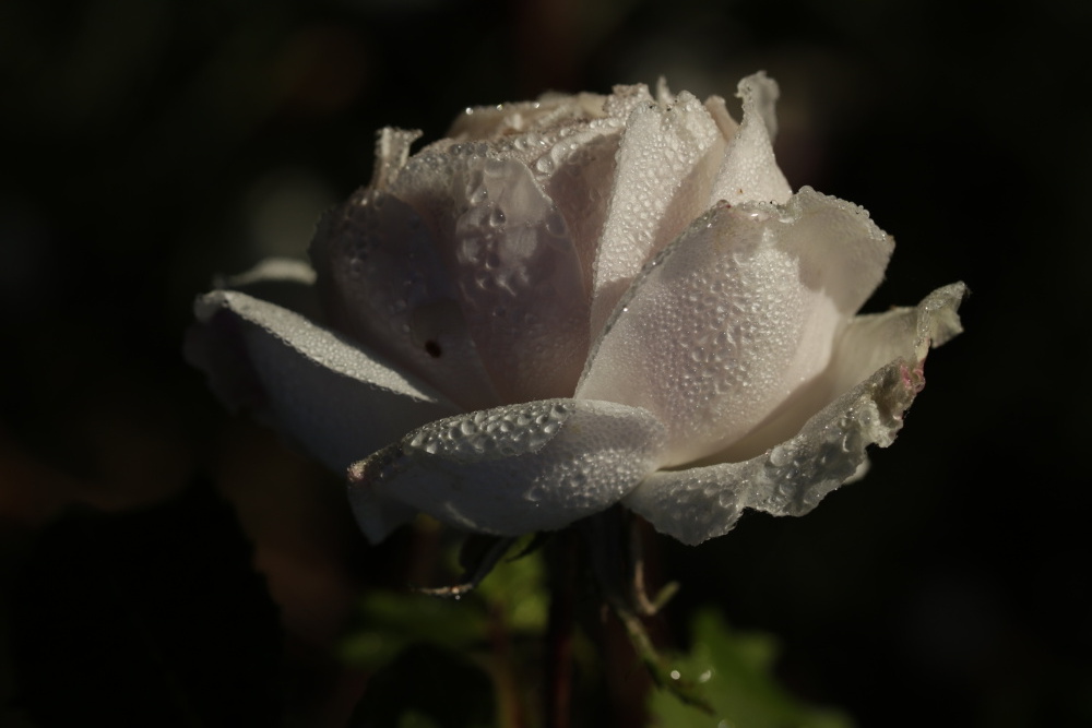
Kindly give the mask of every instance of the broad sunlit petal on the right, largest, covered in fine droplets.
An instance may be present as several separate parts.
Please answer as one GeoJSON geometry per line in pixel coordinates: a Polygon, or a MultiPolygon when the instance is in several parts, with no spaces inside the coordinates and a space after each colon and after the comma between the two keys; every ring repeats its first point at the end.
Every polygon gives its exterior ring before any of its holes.
{"type": "Polygon", "coordinates": [[[784,207],[722,203],[633,283],[577,396],[656,415],[664,466],[717,452],[826,368],[891,247],[867,213],[810,188],[784,207]]]}

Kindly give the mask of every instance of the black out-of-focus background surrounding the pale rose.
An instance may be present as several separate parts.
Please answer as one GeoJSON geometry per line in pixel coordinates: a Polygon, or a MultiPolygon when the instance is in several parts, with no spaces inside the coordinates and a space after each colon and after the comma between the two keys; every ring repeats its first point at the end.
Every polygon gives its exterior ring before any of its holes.
{"type": "MultiPolygon", "coordinates": [[[[852,200],[895,236],[869,308],[957,279],[973,296],[866,480],[805,518],[751,514],[697,549],[664,539],[676,619],[716,601],[779,635],[786,684],[863,726],[1092,724],[1092,5],[981,8],[8,0],[4,578],[68,504],[127,512],[207,476],[280,605],[299,709],[340,725],[358,690],[327,648],[357,565],[395,557],[360,546],[336,479],[186,367],[194,295],[300,254],[318,214],[368,180],[382,126],[435,139],[467,105],[660,74],[731,97],[764,69],[793,187],[852,200]]],[[[9,693],[8,660],[0,677],[9,693]]]]}

